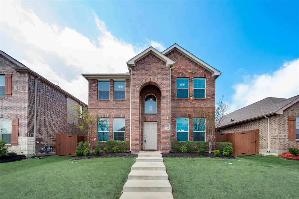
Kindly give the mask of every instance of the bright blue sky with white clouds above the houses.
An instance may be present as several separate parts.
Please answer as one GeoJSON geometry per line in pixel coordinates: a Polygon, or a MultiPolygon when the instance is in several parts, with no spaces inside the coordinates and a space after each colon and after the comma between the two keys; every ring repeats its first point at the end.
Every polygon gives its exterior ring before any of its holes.
{"type": "MultiPolygon", "coordinates": [[[[48,71],[42,75],[60,82],[62,88],[65,85],[64,89],[71,93],[74,93],[72,83],[86,86],[86,82],[78,80],[80,73],[126,72],[125,61],[148,46],[163,50],[177,43],[223,72],[216,80],[216,98],[224,93],[231,100],[231,111],[268,96],[287,98],[299,94],[299,1],[22,1],[16,4],[2,1],[1,4],[1,18],[9,18],[7,15],[16,18],[1,20],[1,50],[37,72],[48,71]],[[19,14],[3,12],[7,8],[19,14]],[[30,30],[41,30],[36,40],[49,40],[49,44],[33,41],[28,36],[30,30]],[[61,41],[74,38],[71,45],[75,46],[68,49],[65,45],[70,42],[58,42],[59,50],[48,47],[59,38],[61,41]],[[80,42],[76,45],[77,40],[80,42]],[[78,58],[80,50],[83,55],[90,52],[93,56],[106,52],[106,57],[115,52],[113,59],[118,60],[109,63],[99,57],[92,60],[97,64],[84,65],[84,58],[78,58]],[[115,58],[121,50],[127,53],[115,58]],[[70,69],[73,70],[69,72],[70,69]],[[293,88],[286,88],[290,82],[293,88]]],[[[87,99],[86,93],[75,91],[74,95],[87,99]]]]}

